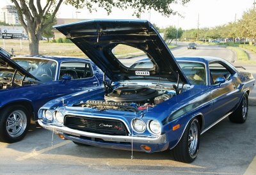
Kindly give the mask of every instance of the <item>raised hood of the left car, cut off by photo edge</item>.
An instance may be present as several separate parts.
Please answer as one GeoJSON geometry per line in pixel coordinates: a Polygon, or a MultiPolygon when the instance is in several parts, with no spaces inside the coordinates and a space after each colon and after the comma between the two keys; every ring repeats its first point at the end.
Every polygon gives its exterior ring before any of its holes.
{"type": "MultiPolygon", "coordinates": [[[[25,75],[26,77],[38,80],[38,79],[36,79],[36,77],[31,75],[31,73],[24,70],[24,68],[22,68],[22,66],[15,63],[15,61],[12,61],[10,54],[8,54],[8,52],[6,52],[4,49],[2,49],[0,47],[0,69],[1,68],[17,70],[18,72],[22,73],[22,75],[25,75]]],[[[40,81],[40,80],[38,80],[38,81],[40,81]]]]}

